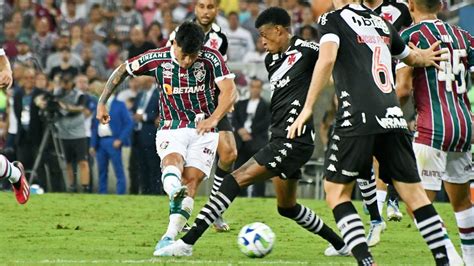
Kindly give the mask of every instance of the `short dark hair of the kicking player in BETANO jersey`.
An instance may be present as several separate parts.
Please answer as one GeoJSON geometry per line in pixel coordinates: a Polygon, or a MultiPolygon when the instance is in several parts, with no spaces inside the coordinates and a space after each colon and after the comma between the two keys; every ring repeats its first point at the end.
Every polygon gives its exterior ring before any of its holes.
{"type": "Polygon", "coordinates": [[[201,50],[204,43],[204,31],[193,22],[184,22],[179,26],[175,37],[176,44],[185,54],[195,54],[201,50]]]}

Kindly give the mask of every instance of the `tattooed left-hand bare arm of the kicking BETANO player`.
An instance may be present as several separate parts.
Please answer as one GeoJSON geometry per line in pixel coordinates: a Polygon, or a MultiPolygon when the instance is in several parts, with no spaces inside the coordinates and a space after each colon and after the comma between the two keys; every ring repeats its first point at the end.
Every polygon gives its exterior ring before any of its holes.
{"type": "Polygon", "coordinates": [[[107,100],[114,93],[115,89],[127,78],[130,74],[127,72],[126,63],[122,63],[117,67],[112,75],[107,80],[104,90],[99,98],[99,103],[97,105],[97,115],[96,118],[102,124],[107,124],[110,122],[110,115],[107,111],[107,100]]]}

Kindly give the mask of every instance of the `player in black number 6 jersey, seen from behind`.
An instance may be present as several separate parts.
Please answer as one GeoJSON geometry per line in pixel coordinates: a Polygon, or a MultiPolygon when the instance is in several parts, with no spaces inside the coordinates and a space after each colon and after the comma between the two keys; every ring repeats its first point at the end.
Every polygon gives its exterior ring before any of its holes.
{"type": "Polygon", "coordinates": [[[351,195],[357,178],[370,177],[375,156],[382,180],[393,184],[414,210],[436,264],[448,265],[441,219],[421,186],[391,71],[392,56],[408,65],[437,66],[435,60],[441,60],[443,52],[434,51],[439,43],[427,50],[409,49],[390,23],[357,0],[333,3],[337,10],[319,20],[324,57],[316,63],[306,103],[288,137],[304,134],[318,95],[332,74],[339,112],[326,156],[324,187],[344,241],[359,265],[374,263],[351,195]]]}

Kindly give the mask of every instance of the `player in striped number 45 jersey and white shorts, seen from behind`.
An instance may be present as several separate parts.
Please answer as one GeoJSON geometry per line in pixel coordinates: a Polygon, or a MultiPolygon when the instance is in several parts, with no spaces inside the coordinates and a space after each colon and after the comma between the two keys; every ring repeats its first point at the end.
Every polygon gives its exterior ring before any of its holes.
{"type": "Polygon", "coordinates": [[[413,150],[423,187],[434,201],[444,184],[455,212],[464,262],[474,265],[474,208],[469,190],[473,132],[466,87],[468,71],[474,72],[474,39],[437,18],[441,5],[439,0],[409,1],[416,24],[401,36],[405,43],[420,48],[441,41],[440,48],[449,51],[448,61],[441,62],[440,70],[398,65],[397,94],[405,103],[414,90],[418,116],[413,150]]]}

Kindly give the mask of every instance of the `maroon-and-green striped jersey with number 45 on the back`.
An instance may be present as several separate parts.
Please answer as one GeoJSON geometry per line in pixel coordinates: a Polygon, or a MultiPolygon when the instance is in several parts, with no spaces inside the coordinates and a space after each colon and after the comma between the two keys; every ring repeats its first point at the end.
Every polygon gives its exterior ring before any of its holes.
{"type": "Polygon", "coordinates": [[[413,88],[418,112],[415,142],[436,149],[466,152],[471,142],[471,111],[467,97],[468,71],[474,71],[474,40],[466,31],[441,20],[426,20],[401,34],[403,40],[426,49],[442,41],[448,61],[414,68],[413,88]]]}

